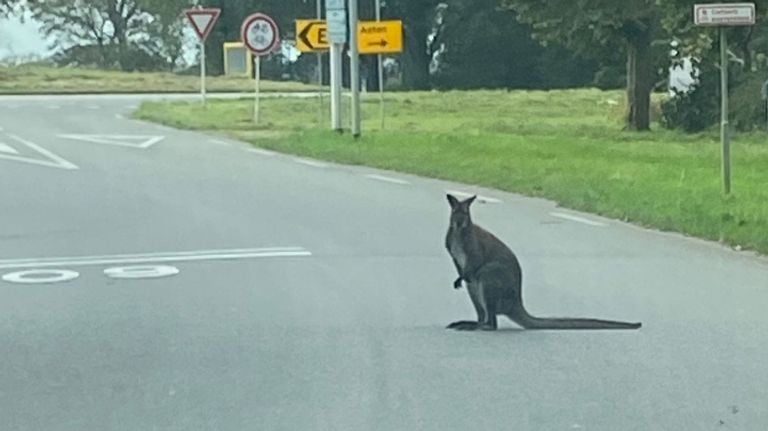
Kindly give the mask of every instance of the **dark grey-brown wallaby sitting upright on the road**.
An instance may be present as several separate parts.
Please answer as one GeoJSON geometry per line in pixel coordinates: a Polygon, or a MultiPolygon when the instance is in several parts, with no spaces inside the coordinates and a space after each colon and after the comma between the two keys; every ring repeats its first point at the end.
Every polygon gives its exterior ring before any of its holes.
{"type": "Polygon", "coordinates": [[[459,272],[453,287],[461,288],[464,281],[477,311],[476,322],[461,320],[451,323],[448,328],[493,331],[497,327],[496,316],[499,314],[525,329],[637,329],[641,326],[641,323],[541,318],[528,314],[523,307],[523,273],[517,257],[496,236],[472,223],[469,206],[476,197],[459,201],[448,195],[451,218],[445,247],[459,272]]]}

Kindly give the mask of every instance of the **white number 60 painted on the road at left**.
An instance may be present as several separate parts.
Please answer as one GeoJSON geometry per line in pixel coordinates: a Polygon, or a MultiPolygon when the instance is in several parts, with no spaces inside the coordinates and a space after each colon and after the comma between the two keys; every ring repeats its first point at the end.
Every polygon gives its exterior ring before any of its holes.
{"type": "MultiPolygon", "coordinates": [[[[169,277],[179,273],[179,269],[170,265],[114,266],[104,270],[109,278],[140,279],[169,277]]],[[[10,283],[43,284],[72,281],[80,276],[69,269],[30,269],[9,272],[1,278],[10,283]]]]}

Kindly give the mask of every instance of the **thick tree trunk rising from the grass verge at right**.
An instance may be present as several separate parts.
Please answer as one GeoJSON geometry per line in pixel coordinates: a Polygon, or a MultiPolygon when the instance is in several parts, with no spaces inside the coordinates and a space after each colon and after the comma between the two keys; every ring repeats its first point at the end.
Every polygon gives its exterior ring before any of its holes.
{"type": "Polygon", "coordinates": [[[628,40],[627,46],[627,130],[650,130],[653,57],[650,32],[628,40]]]}

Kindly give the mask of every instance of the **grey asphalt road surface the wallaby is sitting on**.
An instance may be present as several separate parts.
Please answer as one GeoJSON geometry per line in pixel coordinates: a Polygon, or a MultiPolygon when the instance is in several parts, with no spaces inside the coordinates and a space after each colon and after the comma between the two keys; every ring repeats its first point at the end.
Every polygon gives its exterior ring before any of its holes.
{"type": "Polygon", "coordinates": [[[0,429],[768,429],[768,260],[137,100],[0,98],[0,429]],[[531,312],[643,328],[444,329],[473,317],[446,190],[483,196],[531,312]]]}

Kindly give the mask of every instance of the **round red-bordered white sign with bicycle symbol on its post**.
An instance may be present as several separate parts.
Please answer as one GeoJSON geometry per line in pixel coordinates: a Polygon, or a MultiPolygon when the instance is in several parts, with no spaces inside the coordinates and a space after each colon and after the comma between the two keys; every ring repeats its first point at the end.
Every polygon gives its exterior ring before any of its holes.
{"type": "Polygon", "coordinates": [[[255,57],[253,122],[259,124],[261,56],[274,51],[280,41],[280,33],[275,20],[263,13],[254,13],[243,21],[243,25],[240,27],[240,36],[245,46],[251,50],[255,57]]]}

